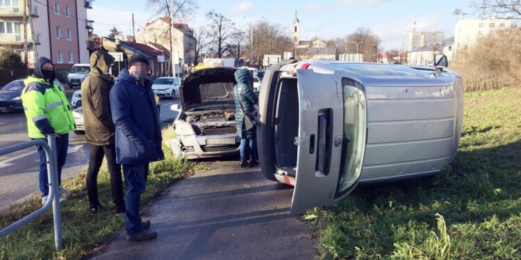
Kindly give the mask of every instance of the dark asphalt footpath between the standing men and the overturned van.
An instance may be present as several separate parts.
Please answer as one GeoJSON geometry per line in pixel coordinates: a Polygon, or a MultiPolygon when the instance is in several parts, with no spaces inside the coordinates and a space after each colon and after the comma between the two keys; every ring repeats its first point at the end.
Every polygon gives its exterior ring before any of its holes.
{"type": "Polygon", "coordinates": [[[169,187],[149,206],[152,241],[125,241],[120,230],[91,259],[313,259],[313,228],[289,216],[292,187],[258,168],[216,162],[169,187]]]}

